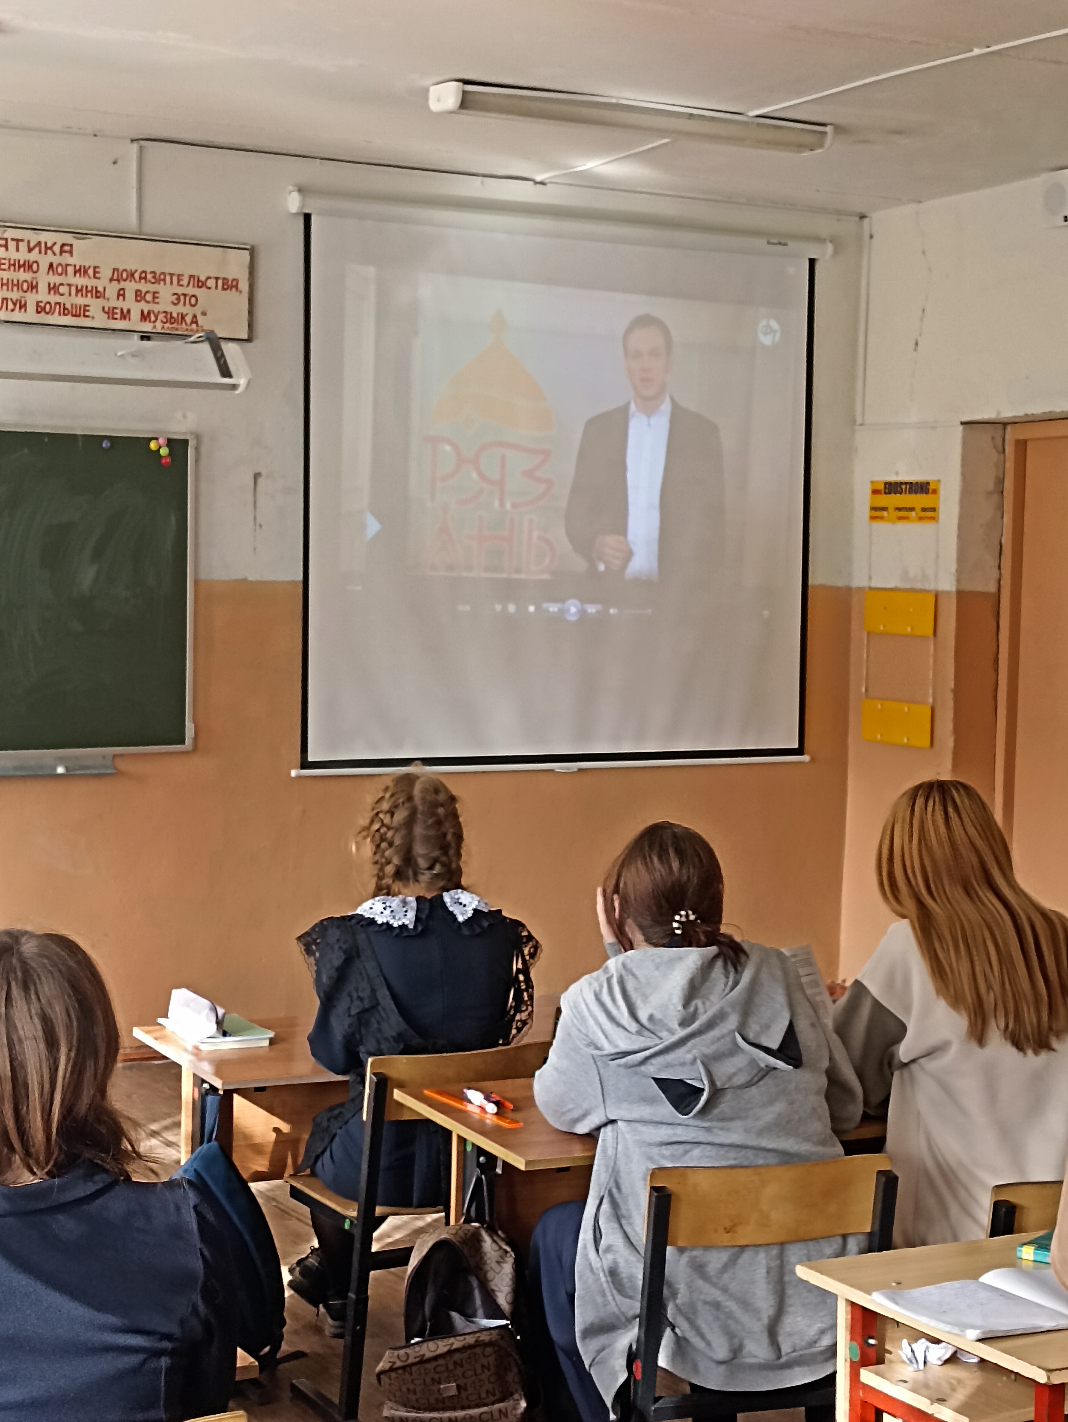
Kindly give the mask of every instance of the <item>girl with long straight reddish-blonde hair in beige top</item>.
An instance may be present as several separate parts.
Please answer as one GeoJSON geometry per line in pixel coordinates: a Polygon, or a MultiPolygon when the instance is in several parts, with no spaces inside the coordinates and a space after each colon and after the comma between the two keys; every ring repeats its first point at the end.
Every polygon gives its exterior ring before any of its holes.
{"type": "Polygon", "coordinates": [[[900,1177],[895,1241],[980,1239],[990,1189],[1059,1179],[1068,1156],[1068,919],[1013,870],[964,781],[899,796],[879,840],[893,924],[835,1010],[885,1112],[900,1177]]]}

